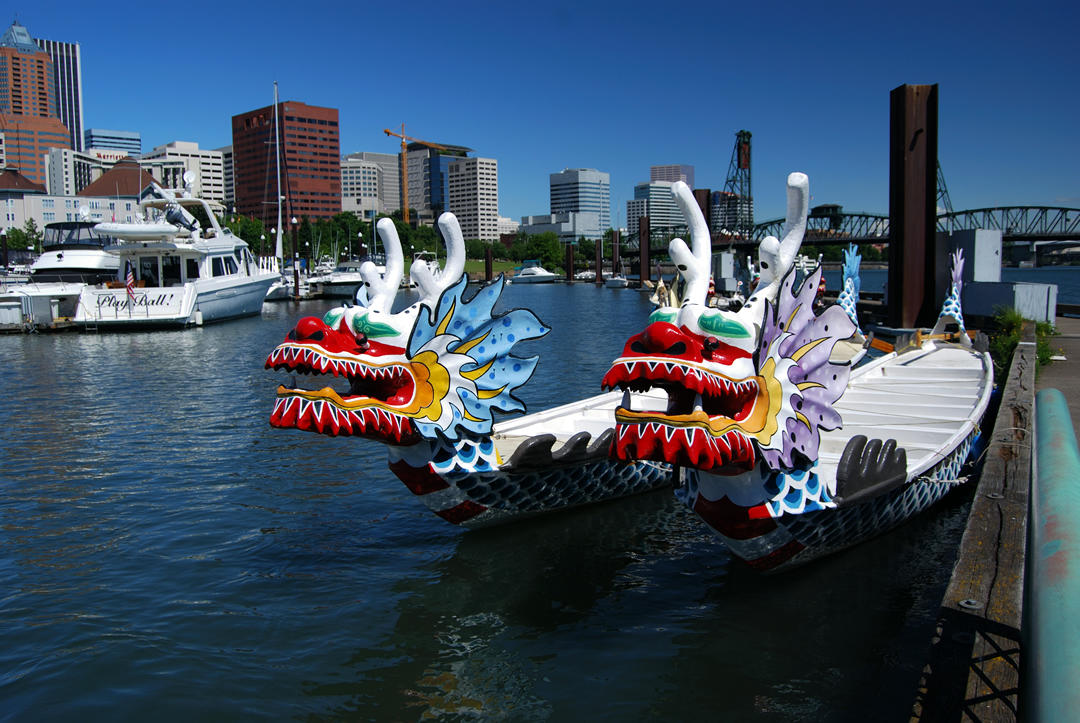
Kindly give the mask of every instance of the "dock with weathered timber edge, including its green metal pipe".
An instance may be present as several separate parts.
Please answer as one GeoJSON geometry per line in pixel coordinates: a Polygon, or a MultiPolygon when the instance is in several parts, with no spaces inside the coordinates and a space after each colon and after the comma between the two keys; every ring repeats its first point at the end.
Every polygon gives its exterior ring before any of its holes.
{"type": "Polygon", "coordinates": [[[1052,677],[1077,666],[1069,620],[1080,601],[1061,594],[1076,586],[1077,546],[1055,524],[1070,523],[1067,509],[1049,500],[1077,497],[1080,319],[1058,317],[1055,326],[1058,359],[1038,375],[1034,325],[1013,356],[912,720],[1057,720],[1075,697],[1052,677]]]}

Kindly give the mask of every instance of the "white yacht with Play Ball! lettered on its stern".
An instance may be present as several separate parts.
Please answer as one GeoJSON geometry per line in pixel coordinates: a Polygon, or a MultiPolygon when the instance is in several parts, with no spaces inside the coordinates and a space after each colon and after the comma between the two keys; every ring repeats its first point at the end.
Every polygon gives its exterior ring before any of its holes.
{"type": "Polygon", "coordinates": [[[96,226],[117,239],[105,250],[117,256],[119,269],[113,280],[83,289],[75,322],[86,329],[184,327],[258,313],[281,275],[260,268],[206,201],[187,189],[154,190],[161,198],[139,203],[154,220],[96,226]],[[189,209],[202,210],[210,227],[202,228],[189,209]]]}

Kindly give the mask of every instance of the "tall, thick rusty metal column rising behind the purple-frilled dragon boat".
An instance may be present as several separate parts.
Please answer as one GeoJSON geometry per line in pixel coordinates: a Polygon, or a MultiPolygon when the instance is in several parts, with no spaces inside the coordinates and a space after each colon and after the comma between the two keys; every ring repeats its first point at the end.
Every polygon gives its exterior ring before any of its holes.
{"type": "Polygon", "coordinates": [[[937,231],[937,85],[889,94],[889,324],[931,326],[937,231]]]}

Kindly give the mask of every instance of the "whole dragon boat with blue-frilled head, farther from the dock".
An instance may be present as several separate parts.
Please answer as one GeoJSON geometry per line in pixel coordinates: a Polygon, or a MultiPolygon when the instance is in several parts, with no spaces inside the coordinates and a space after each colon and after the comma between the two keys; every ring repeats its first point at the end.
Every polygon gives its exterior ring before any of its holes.
{"type": "MultiPolygon", "coordinates": [[[[393,312],[404,259],[393,222],[379,222],[384,271],[365,263],[356,305],[301,319],[269,354],[267,369],[293,373],[278,388],[270,424],[387,444],[405,486],[465,527],[670,485],[666,463],[610,458],[618,392],[495,421],[496,412],[525,412],[514,392],[537,364],[513,347],[549,330],[527,309],[495,313],[501,276],[467,298],[458,222],[444,213],[438,226],[445,267],[414,262],[419,298],[393,312]],[[296,374],[324,386],[301,388],[296,374]]],[[[666,404],[659,391],[633,397],[646,409],[666,404]]]]}

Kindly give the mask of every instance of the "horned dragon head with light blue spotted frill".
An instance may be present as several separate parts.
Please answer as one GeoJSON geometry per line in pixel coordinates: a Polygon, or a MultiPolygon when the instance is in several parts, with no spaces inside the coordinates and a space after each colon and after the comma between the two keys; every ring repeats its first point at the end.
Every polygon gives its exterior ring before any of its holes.
{"type": "Polygon", "coordinates": [[[294,373],[278,388],[270,424],[324,434],[367,437],[391,445],[423,439],[460,440],[490,432],[495,410],[524,410],[514,397],[537,359],[510,353],[517,342],[548,329],[530,311],[492,313],[502,279],[465,299],[464,241],[457,218],[438,218],[447,244],[441,273],[423,263],[410,269],[419,299],[394,312],[403,276],[401,242],[393,222],[378,224],[387,250],[383,275],[361,269],[357,306],[306,317],[267,359],[267,369],[294,373]],[[337,384],[297,386],[295,374],[337,384]]]}

